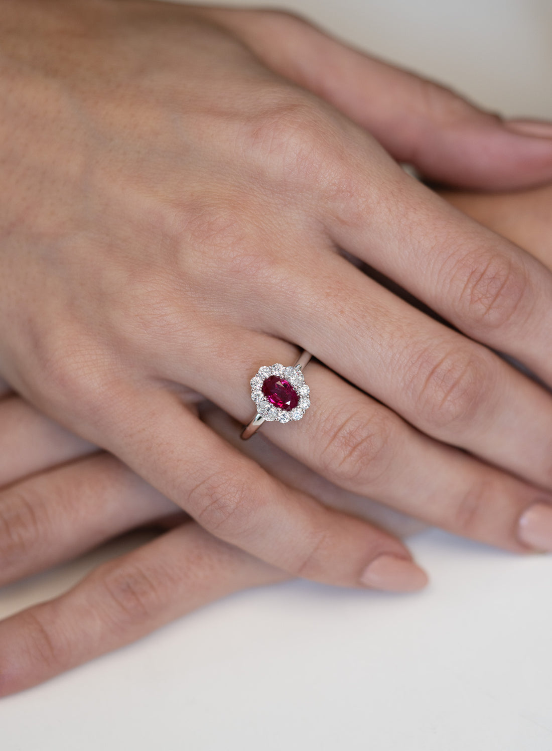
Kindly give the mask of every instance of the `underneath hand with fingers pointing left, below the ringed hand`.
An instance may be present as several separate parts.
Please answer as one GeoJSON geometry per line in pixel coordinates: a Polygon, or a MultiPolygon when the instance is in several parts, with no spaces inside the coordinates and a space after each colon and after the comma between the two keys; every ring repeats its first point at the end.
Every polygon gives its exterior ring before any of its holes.
{"type": "MultiPolygon", "coordinates": [[[[240,442],[221,410],[204,406],[202,418],[262,466],[277,467],[294,487],[396,533],[413,531],[400,514],[339,490],[261,437],[240,442]]],[[[122,647],[226,594],[286,578],[186,520],[179,506],[114,457],[14,396],[0,401],[0,488],[0,587],[138,526],[165,530],[99,566],[63,596],[0,623],[0,696],[122,647]]]]}

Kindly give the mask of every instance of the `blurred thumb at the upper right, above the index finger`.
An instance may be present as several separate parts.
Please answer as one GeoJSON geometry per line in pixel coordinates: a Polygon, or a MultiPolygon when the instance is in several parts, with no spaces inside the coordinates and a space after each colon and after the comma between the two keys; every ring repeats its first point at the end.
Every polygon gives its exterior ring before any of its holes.
{"type": "Polygon", "coordinates": [[[270,68],[362,125],[397,161],[462,188],[552,180],[552,124],[503,121],[459,95],[367,56],[279,11],[216,11],[270,68]]]}

